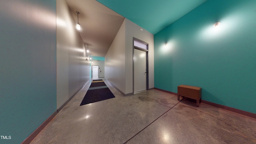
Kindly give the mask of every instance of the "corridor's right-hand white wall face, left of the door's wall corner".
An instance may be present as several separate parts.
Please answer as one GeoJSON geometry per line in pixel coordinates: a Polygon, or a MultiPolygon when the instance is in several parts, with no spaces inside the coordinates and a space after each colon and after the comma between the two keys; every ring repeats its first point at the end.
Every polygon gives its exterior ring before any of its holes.
{"type": "Polygon", "coordinates": [[[105,79],[125,93],[125,21],[105,56],[105,79]]]}

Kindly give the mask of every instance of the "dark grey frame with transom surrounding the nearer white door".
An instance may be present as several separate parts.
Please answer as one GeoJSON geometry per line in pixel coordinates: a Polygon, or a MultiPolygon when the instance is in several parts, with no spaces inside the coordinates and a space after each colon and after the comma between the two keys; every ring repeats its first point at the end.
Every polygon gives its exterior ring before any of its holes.
{"type": "Polygon", "coordinates": [[[146,43],[146,42],[144,42],[144,41],[142,41],[142,40],[139,40],[138,38],[134,38],[133,37],[133,39],[132,39],[132,46],[133,46],[133,48],[132,48],[132,84],[133,84],[133,86],[132,86],[132,92],[134,93],[134,49],[137,49],[137,50],[142,50],[142,51],[144,51],[144,52],[146,52],[146,70],[147,70],[147,72],[146,72],[146,90],[149,90],[148,89],[148,87],[149,87],[149,84],[148,84],[148,43],[146,43]],[[134,40],[136,40],[136,41],[138,41],[138,42],[141,42],[141,43],[143,43],[143,44],[146,44],[147,45],[147,49],[144,49],[144,48],[139,48],[139,47],[137,47],[137,46],[134,46],[134,40]]]}

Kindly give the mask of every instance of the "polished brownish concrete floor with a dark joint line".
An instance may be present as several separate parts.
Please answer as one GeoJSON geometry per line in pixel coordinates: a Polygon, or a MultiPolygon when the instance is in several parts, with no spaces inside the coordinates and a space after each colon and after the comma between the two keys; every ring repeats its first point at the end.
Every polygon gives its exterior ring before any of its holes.
{"type": "Polygon", "coordinates": [[[159,90],[79,106],[90,83],[31,144],[256,144],[256,120],[159,90]]]}

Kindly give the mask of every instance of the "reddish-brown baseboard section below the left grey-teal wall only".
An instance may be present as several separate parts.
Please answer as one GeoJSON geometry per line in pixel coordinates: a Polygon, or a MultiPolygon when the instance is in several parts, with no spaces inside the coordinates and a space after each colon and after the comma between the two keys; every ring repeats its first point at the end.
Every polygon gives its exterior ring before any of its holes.
{"type": "Polygon", "coordinates": [[[38,128],[36,128],[36,130],[34,130],[34,132],[32,132],[25,140],[23,140],[23,142],[21,142],[21,144],[29,144],[30,142],[32,142],[32,140],[34,140],[34,138],[56,116],[57,113],[58,113],[58,111],[55,110],[55,112],[51,116],[49,116],[40,126],[38,126],[38,128]]]}

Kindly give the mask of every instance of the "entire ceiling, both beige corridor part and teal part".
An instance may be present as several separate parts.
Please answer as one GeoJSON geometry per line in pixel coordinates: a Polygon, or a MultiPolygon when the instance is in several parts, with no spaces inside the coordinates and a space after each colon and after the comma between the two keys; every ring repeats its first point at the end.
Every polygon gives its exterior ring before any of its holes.
{"type": "Polygon", "coordinates": [[[104,57],[124,18],[156,34],[206,0],[66,0],[92,56],[104,57]],[[86,34],[86,35],[84,35],[86,34]]]}

